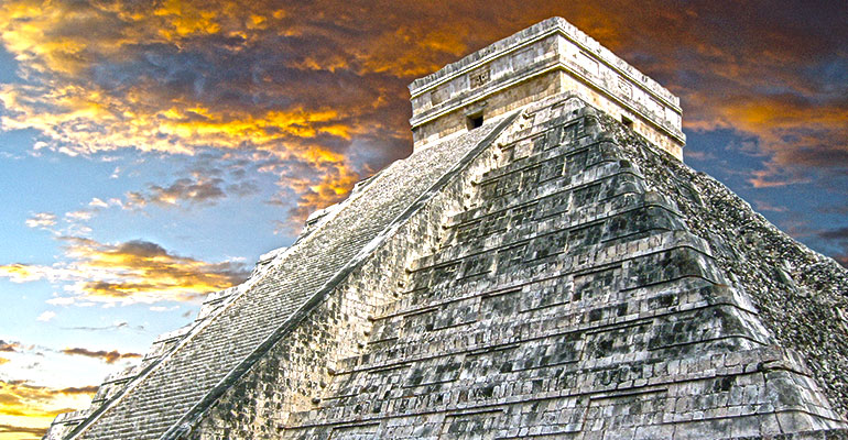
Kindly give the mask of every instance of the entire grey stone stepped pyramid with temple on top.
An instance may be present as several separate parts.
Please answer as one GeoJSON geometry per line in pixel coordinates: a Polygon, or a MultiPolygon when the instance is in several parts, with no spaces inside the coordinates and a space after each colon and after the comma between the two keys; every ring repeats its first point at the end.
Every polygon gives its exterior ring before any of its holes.
{"type": "Polygon", "coordinates": [[[677,97],[559,18],[410,91],[412,155],[45,438],[848,438],[848,271],[677,97]]]}

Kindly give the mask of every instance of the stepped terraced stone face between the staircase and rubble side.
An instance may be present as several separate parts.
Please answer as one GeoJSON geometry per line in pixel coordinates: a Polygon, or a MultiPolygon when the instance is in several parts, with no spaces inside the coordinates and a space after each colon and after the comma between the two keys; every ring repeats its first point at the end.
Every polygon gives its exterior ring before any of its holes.
{"type": "Polygon", "coordinates": [[[574,98],[524,111],[363,354],[282,438],[844,435],[804,360],[599,118],[574,98]]]}

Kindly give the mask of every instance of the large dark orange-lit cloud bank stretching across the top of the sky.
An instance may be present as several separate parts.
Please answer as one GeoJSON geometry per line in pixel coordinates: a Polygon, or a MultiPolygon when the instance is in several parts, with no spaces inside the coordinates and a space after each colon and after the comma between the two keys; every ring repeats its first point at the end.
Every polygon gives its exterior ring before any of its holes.
{"type": "MultiPolygon", "coordinates": [[[[66,154],[215,150],[268,161],[291,230],[410,152],[412,79],[552,15],[680,95],[687,130],[752,139],[747,152],[762,166],[750,185],[848,173],[846,10],[785,0],[9,0],[0,41],[25,81],[0,86],[0,125],[34,129],[40,145],[66,154]],[[354,157],[358,144],[365,163],[354,157]]],[[[151,184],[122,204],[210,205],[256,190],[202,177],[151,184]]]]}

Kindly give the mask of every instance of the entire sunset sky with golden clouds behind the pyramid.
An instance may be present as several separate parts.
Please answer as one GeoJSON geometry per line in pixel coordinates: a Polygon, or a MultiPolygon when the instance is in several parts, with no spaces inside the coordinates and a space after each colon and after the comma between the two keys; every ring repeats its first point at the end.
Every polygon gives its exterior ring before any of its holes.
{"type": "Polygon", "coordinates": [[[409,82],[553,15],[681,97],[689,166],[848,265],[844,1],[3,0],[0,439],[409,155],[409,82]]]}

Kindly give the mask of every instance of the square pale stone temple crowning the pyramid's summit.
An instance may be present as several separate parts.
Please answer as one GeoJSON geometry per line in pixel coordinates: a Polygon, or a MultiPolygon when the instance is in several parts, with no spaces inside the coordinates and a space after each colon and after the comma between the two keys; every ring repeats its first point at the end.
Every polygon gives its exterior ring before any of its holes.
{"type": "Polygon", "coordinates": [[[554,16],[410,85],[415,150],[564,91],[627,120],[683,158],[680,99],[567,21],[554,16]]]}

